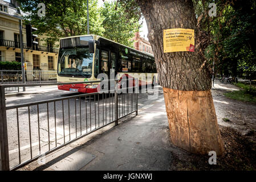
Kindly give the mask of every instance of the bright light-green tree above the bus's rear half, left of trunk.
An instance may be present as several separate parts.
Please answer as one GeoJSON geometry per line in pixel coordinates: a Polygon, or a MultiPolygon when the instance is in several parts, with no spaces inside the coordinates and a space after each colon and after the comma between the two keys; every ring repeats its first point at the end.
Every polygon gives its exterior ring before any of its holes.
{"type": "Polygon", "coordinates": [[[133,47],[132,38],[135,32],[139,31],[140,15],[130,15],[124,11],[120,3],[105,1],[101,16],[105,18],[103,20],[105,38],[133,47]]]}

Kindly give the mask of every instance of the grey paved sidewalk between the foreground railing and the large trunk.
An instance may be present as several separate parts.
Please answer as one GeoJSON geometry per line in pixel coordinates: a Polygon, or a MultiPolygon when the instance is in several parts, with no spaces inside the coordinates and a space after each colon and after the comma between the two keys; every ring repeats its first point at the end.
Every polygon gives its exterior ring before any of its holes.
{"type": "Polygon", "coordinates": [[[136,117],[105,127],[21,170],[168,170],[171,152],[164,98],[139,109],[136,117]],[[63,152],[61,152],[63,151],[63,152]],[[90,159],[89,159],[90,158],[90,159]],[[83,164],[84,162],[84,164],[83,164]]]}

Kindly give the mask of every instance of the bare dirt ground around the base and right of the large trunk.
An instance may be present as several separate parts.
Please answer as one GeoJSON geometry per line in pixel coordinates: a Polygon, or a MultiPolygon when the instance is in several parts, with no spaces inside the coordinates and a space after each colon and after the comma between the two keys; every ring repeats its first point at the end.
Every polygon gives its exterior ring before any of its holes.
{"type": "Polygon", "coordinates": [[[225,147],[224,155],[217,158],[217,165],[208,163],[208,155],[190,154],[177,148],[172,151],[170,170],[256,170],[256,104],[224,96],[225,92],[238,89],[220,82],[214,83],[212,89],[225,147]]]}

